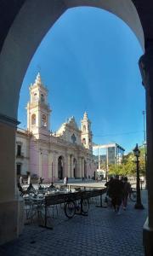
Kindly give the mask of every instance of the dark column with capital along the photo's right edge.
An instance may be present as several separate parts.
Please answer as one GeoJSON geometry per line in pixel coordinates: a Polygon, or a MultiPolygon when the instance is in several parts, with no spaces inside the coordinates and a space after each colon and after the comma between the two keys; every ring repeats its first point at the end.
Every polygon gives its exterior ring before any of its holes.
{"type": "Polygon", "coordinates": [[[153,255],[153,45],[145,50],[139,59],[146,95],[146,133],[147,133],[147,166],[146,182],[148,188],[148,218],[144,224],[145,255],[153,255]]]}

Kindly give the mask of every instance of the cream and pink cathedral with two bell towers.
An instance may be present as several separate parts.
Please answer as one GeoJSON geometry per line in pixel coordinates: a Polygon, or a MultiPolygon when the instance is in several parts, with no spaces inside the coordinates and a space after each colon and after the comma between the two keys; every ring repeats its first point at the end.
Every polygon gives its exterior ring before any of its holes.
{"type": "Polygon", "coordinates": [[[45,182],[64,177],[93,177],[96,166],[88,114],[83,115],[81,129],[71,117],[52,133],[48,90],[42,84],[40,73],[29,90],[27,129],[18,128],[16,133],[17,177],[30,173],[31,177],[42,177],[45,182]]]}

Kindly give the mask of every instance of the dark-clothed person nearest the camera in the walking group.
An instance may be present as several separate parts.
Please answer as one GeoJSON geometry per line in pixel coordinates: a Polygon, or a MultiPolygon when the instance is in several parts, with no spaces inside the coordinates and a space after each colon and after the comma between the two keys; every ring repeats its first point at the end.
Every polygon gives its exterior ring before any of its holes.
{"type": "Polygon", "coordinates": [[[112,206],[114,207],[114,211],[119,215],[121,213],[120,207],[122,204],[123,183],[121,180],[119,180],[118,175],[116,175],[115,178],[111,181],[109,187],[112,206]]]}

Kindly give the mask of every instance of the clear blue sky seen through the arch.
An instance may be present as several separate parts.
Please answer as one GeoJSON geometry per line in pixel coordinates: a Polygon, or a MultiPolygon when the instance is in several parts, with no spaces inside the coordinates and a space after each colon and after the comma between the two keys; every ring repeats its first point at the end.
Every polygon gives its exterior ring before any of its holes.
{"type": "Polygon", "coordinates": [[[20,90],[18,119],[26,128],[29,85],[38,71],[48,87],[51,127],[56,131],[84,111],[94,143],[118,143],[126,152],[142,144],[144,87],[138,61],[143,54],[131,29],[103,9],[69,9],[49,30],[33,56],[20,90]]]}

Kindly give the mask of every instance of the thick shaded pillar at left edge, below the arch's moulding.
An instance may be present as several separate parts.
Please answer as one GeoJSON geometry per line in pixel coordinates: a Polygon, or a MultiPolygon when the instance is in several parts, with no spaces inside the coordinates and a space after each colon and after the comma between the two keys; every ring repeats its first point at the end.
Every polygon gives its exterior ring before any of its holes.
{"type": "Polygon", "coordinates": [[[24,202],[16,186],[17,121],[0,114],[0,244],[17,238],[23,229],[24,202]]]}

